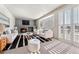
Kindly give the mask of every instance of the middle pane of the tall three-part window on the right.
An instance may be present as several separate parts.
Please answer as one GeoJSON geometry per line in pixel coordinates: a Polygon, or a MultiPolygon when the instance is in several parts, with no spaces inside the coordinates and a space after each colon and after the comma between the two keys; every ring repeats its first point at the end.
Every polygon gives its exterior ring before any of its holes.
{"type": "Polygon", "coordinates": [[[64,39],[71,40],[71,9],[64,11],[64,39]]]}

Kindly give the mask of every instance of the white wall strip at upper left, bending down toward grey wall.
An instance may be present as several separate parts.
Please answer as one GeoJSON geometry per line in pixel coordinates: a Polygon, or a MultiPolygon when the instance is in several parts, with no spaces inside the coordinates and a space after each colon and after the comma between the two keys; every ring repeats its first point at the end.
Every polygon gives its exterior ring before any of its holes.
{"type": "Polygon", "coordinates": [[[10,13],[10,11],[4,6],[0,4],[0,13],[4,14],[7,16],[10,20],[10,28],[13,28],[15,25],[15,18],[13,15],[10,13]]]}

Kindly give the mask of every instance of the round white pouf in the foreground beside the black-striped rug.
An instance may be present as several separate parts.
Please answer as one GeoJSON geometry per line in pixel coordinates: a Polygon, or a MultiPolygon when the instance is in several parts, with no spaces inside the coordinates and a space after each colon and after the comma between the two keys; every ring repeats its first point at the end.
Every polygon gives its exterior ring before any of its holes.
{"type": "Polygon", "coordinates": [[[31,53],[40,53],[40,41],[38,39],[31,39],[28,41],[28,49],[31,53]]]}

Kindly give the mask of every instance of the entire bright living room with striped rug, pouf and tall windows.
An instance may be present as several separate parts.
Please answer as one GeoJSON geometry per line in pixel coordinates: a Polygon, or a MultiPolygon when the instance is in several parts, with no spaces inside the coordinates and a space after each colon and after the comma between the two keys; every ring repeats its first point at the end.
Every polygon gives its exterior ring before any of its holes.
{"type": "Polygon", "coordinates": [[[0,53],[79,53],[78,4],[3,4],[0,9],[0,53]]]}

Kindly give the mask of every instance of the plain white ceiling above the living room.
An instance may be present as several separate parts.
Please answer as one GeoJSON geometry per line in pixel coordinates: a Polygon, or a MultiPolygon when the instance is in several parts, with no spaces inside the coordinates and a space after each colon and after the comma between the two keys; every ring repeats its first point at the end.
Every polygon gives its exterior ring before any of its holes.
{"type": "Polygon", "coordinates": [[[37,19],[62,4],[5,4],[16,18],[37,19]]]}

